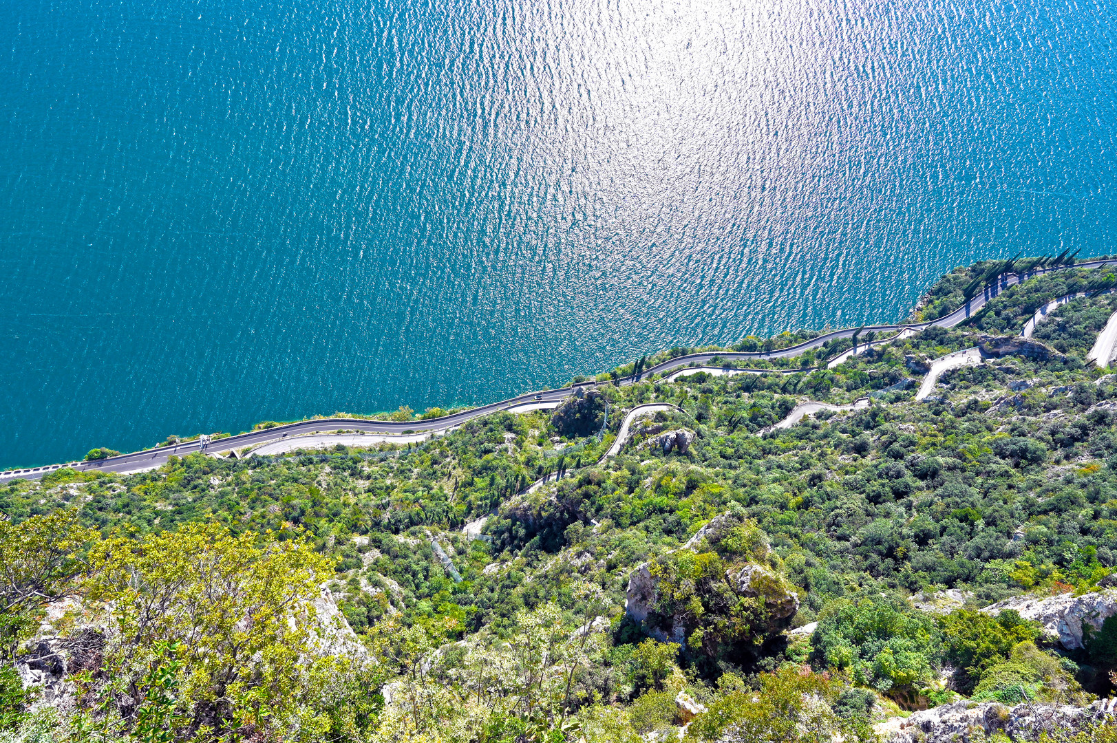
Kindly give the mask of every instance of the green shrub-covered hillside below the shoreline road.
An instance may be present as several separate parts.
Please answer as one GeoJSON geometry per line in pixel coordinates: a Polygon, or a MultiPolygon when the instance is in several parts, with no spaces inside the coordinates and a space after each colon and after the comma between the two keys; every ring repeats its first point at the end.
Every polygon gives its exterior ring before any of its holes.
{"type": "Polygon", "coordinates": [[[611,383],[676,349],[418,445],[12,480],[0,741],[869,741],[955,699],[1087,704],[1117,620],[1071,652],[977,609],[1114,580],[1117,378],[1085,355],[1117,298],[913,397],[929,360],[1109,280],[1040,276],[832,370],[611,383]],[[602,460],[646,402],[678,410],[602,460]]]}

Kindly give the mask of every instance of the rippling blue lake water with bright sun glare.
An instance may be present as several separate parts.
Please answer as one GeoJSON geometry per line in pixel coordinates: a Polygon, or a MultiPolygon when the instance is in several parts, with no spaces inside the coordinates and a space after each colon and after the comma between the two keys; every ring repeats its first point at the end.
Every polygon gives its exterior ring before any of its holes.
{"type": "Polygon", "coordinates": [[[1117,253],[1105,2],[8,0],[0,465],[1117,253]]]}

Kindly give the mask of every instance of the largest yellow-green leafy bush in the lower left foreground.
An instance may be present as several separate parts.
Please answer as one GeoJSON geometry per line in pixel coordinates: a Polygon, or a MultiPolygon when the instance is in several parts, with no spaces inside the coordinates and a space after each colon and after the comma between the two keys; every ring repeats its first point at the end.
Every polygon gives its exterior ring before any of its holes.
{"type": "Polygon", "coordinates": [[[114,679],[139,682],[159,665],[160,644],[171,645],[184,726],[222,734],[264,725],[306,737],[323,722],[305,705],[323,680],[312,602],[332,564],[300,541],[192,524],[97,542],[84,590],[112,608],[105,660],[114,679]]]}

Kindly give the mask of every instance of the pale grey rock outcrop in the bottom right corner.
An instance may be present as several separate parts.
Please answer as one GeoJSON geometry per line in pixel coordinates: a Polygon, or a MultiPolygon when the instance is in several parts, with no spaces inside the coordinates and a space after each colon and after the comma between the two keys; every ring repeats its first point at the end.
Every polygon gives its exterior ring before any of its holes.
{"type": "Polygon", "coordinates": [[[977,743],[996,732],[1012,741],[1037,741],[1044,733],[1073,733],[1092,723],[1111,721],[1115,705],[1117,699],[1101,699],[1088,707],[955,702],[913,713],[907,720],[881,723],[877,732],[887,743],[977,743]]]}

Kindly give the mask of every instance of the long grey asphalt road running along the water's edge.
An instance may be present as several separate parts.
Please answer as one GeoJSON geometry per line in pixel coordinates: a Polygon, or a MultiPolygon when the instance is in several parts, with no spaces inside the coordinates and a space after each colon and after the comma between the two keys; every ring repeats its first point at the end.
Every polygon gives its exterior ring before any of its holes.
{"type": "MultiPolygon", "coordinates": [[[[1076,268],[1099,268],[1106,265],[1117,265],[1117,259],[1106,259],[1106,260],[1085,260],[1076,264],[1076,268]]],[[[813,349],[821,347],[828,341],[837,339],[852,337],[855,333],[887,333],[894,331],[903,331],[911,328],[913,331],[919,331],[925,327],[938,326],[938,327],[954,327],[955,325],[968,320],[974,316],[994,297],[996,297],[1001,292],[1014,286],[1023,280],[1047,274],[1053,270],[1060,270],[1066,268],[1066,266],[1054,266],[1050,268],[1038,268],[1034,270],[1029,270],[1023,274],[1002,274],[994,280],[993,284],[987,285],[984,290],[974,296],[972,299],[963,304],[961,307],[954,312],[939,317],[938,320],[933,320],[926,323],[911,323],[911,324],[892,324],[892,325],[866,325],[860,328],[847,327],[837,331],[830,331],[828,333],[822,333],[821,335],[805,341],[798,345],[787,346],[786,349],[777,349],[773,351],[754,351],[754,352],[731,352],[731,351],[712,351],[706,353],[691,353],[684,356],[677,356],[675,359],[669,359],[655,366],[649,366],[643,371],[639,378],[624,377],[617,382],[627,387],[633,384],[641,379],[647,379],[653,374],[666,374],[667,372],[680,369],[684,366],[690,366],[691,364],[705,364],[713,361],[715,358],[722,359],[724,361],[742,361],[742,360],[756,360],[756,359],[791,359],[798,355],[811,351],[813,349]]],[[[813,370],[802,370],[811,371],[813,370]]],[[[247,434],[240,434],[238,436],[230,436],[228,438],[218,439],[214,441],[202,442],[202,440],[188,441],[184,444],[179,444],[175,446],[159,447],[155,449],[147,449],[145,451],[134,451],[132,454],[124,454],[118,457],[109,457],[107,459],[101,459],[97,461],[73,461],[58,465],[46,465],[42,467],[31,467],[25,469],[12,469],[8,471],[0,473],[0,482],[12,479],[12,478],[25,478],[25,479],[37,479],[44,475],[58,469],[60,467],[73,467],[77,470],[101,470],[106,473],[135,473],[143,471],[146,469],[153,469],[166,463],[168,458],[171,456],[184,456],[188,454],[193,454],[194,451],[204,451],[208,454],[216,454],[222,451],[230,451],[233,449],[242,449],[245,447],[255,447],[260,444],[266,444],[269,441],[281,440],[292,436],[305,435],[305,434],[333,434],[336,431],[343,432],[364,432],[364,434],[430,434],[436,431],[445,431],[447,429],[461,426],[468,420],[474,418],[479,418],[481,416],[487,416],[489,413],[498,412],[500,410],[514,409],[516,411],[523,411],[529,406],[536,406],[538,403],[560,403],[567,397],[574,394],[575,390],[579,388],[590,388],[596,385],[596,382],[589,381],[582,382],[572,387],[555,389],[555,390],[544,390],[542,392],[528,392],[527,394],[522,394],[509,400],[502,400],[500,402],[493,402],[490,404],[480,406],[478,408],[471,408],[469,410],[462,410],[450,416],[443,416],[441,418],[432,418],[429,420],[411,420],[404,422],[388,421],[388,420],[365,420],[360,418],[319,418],[316,420],[303,420],[294,423],[287,423],[285,426],[277,426],[275,428],[269,428],[260,431],[249,431],[247,434]]]]}

